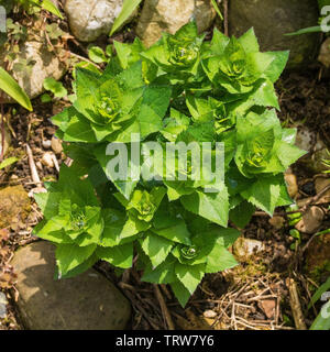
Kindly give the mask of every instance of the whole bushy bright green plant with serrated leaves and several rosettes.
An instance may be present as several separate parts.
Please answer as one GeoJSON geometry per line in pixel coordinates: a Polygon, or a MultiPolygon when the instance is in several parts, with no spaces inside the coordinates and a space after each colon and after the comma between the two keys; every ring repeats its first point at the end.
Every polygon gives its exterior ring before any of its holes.
{"type": "MultiPolygon", "coordinates": [[[[296,130],[280,127],[273,86],[288,53],[261,53],[253,30],[239,40],[216,30],[205,42],[195,22],[148,50],[138,38],[114,47],[103,73],[76,68],[76,100],[53,118],[74,162],[35,195],[45,219],[34,233],[56,244],[59,277],[98,260],[129,268],[138,255],[142,279],[169,284],[185,306],[206,273],[237,265],[228,248],[240,232],[229,220],[243,228],[255,207],[272,215],[293,202],[283,173],[304,152],[294,145],[296,130]],[[210,185],[201,169],[195,180],[194,164],[180,168],[175,156],[173,179],[118,180],[108,165],[120,155],[107,147],[130,150],[132,133],[145,152],[147,142],[221,142],[224,179],[210,185]]],[[[152,168],[146,154],[142,170],[152,168]]],[[[163,156],[153,165],[161,176],[163,156]]]]}

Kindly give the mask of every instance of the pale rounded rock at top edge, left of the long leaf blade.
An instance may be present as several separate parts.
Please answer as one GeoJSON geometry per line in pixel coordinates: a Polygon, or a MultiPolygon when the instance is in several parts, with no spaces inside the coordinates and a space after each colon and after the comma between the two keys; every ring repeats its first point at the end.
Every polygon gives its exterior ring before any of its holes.
{"type": "Polygon", "coordinates": [[[92,42],[101,34],[109,34],[122,3],[123,0],[67,0],[64,10],[74,35],[82,42],[92,42]]]}

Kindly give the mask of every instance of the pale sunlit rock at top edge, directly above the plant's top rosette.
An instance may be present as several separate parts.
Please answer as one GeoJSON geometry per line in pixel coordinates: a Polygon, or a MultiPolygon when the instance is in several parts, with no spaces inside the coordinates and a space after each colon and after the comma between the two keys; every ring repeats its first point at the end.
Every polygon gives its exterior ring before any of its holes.
{"type": "Polygon", "coordinates": [[[163,32],[174,34],[193,16],[199,32],[206,31],[216,16],[210,0],[145,0],[136,34],[146,46],[151,46],[163,32]]]}

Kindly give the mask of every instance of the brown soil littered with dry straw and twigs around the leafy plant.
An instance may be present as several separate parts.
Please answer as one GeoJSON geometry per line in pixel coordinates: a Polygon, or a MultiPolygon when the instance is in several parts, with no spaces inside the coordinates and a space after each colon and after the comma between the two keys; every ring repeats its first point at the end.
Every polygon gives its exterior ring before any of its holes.
{"type": "MultiPolygon", "coordinates": [[[[133,38],[132,31],[120,33],[114,37],[125,42],[132,42],[133,38]]],[[[78,55],[85,55],[82,45],[70,44],[70,46],[78,55]]],[[[63,81],[68,86],[70,74],[67,74],[63,81]]],[[[320,133],[321,139],[330,146],[330,85],[329,76],[323,68],[315,65],[304,72],[285,73],[276,89],[280,102],[278,116],[282,122],[288,127],[302,123],[320,133]]],[[[51,141],[56,131],[50,118],[67,105],[68,102],[63,100],[56,103],[42,103],[40,99],[35,99],[33,112],[26,112],[16,106],[7,107],[7,112],[12,116],[8,123],[12,133],[12,146],[7,156],[18,156],[20,161],[6,172],[0,170],[0,188],[22,185],[28,193],[35,188],[26,156],[26,143],[38,165],[37,172],[42,182],[56,179],[56,169],[41,164],[43,155],[50,151],[43,141],[51,141]]],[[[65,155],[57,154],[56,158],[61,165],[65,161],[65,155]]],[[[314,175],[295,165],[293,170],[298,177],[300,198],[315,196],[314,175]]],[[[9,261],[20,245],[37,240],[31,232],[33,226],[41,219],[41,215],[32,199],[31,205],[34,216],[29,218],[25,228],[15,231],[9,229],[8,235],[2,238],[0,235],[0,290],[10,299],[9,315],[6,320],[0,319],[0,330],[22,328],[15,320],[15,276],[9,261]]],[[[309,327],[319,311],[319,306],[316,305],[312,309],[308,309],[307,306],[317,286],[327,278],[327,273],[316,277],[307,270],[307,251],[304,249],[309,243],[310,235],[302,234],[300,243],[297,243],[289,233],[293,227],[288,224],[286,216],[284,220],[285,224],[277,230],[270,223],[270,217],[262,213],[254,216],[242,235],[262,241],[265,251],[253,255],[233,270],[206,275],[186,309],[179,306],[168,287],[161,285],[162,296],[175,327],[183,330],[296,329],[289,302],[288,278],[294,278],[298,286],[301,310],[309,327]]],[[[329,213],[320,231],[328,228],[330,228],[329,213]]],[[[131,329],[168,328],[155,295],[155,287],[141,282],[141,272],[133,267],[118,277],[105,262],[97,263],[96,268],[117,283],[132,301],[134,314],[131,329]]]]}

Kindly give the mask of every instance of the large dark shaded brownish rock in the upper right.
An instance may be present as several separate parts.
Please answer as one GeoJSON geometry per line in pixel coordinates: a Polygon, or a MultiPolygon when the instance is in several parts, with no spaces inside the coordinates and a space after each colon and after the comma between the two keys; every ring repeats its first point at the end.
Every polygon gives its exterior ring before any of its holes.
{"type": "Polygon", "coordinates": [[[285,36],[318,24],[316,0],[234,0],[229,2],[230,34],[254,28],[262,51],[290,51],[288,67],[311,63],[320,46],[320,33],[285,36]]]}

